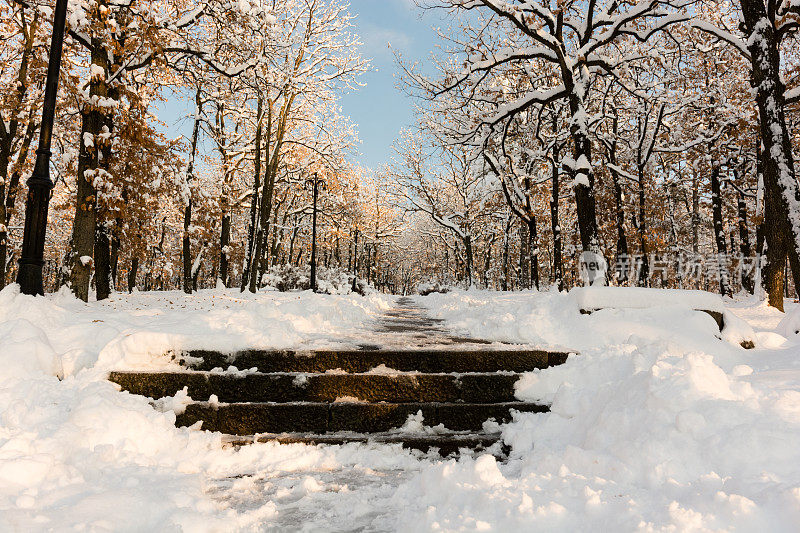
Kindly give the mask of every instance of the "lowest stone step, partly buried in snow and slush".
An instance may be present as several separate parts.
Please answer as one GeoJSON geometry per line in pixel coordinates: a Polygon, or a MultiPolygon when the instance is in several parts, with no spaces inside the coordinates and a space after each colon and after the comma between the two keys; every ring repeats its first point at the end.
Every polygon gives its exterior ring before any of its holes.
{"type": "MultiPolygon", "coordinates": [[[[308,433],[267,433],[257,436],[230,436],[224,439],[228,446],[247,446],[254,442],[278,442],[280,444],[328,444],[342,445],[349,443],[364,444],[400,444],[403,448],[420,450],[424,453],[437,451],[442,456],[459,453],[463,449],[480,452],[501,442],[500,433],[339,433],[317,435],[308,433]]],[[[501,443],[497,454],[504,457],[508,454],[501,443]]]]}

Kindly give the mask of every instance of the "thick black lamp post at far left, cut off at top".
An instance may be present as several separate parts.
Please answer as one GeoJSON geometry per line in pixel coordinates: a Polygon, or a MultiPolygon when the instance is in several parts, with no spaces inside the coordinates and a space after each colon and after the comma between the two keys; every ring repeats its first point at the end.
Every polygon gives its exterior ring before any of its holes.
{"type": "Polygon", "coordinates": [[[19,260],[17,283],[23,294],[44,294],[42,266],[44,265],[44,238],[47,231],[47,211],[50,204],[50,140],[58,95],[58,75],[61,70],[61,51],[64,46],[64,26],[67,20],[67,0],[56,1],[53,18],[53,39],[50,43],[50,61],[42,106],[42,125],[39,131],[39,148],[36,165],[28,178],[28,199],[25,203],[25,230],[22,238],[22,256],[19,260]]]}

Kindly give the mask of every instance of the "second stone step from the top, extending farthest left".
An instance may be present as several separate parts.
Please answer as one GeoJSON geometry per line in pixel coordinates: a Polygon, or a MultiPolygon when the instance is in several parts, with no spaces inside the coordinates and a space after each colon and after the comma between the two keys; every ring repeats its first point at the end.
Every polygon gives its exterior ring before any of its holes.
{"type": "Polygon", "coordinates": [[[188,387],[193,400],[220,402],[513,402],[519,374],[216,374],[112,372],[123,390],[148,398],[174,396],[188,387]]]}

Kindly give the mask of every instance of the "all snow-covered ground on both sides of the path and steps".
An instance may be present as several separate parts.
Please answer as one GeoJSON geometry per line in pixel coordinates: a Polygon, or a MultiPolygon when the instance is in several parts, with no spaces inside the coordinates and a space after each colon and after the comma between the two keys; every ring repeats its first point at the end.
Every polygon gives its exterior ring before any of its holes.
{"type": "Polygon", "coordinates": [[[727,303],[755,330],[744,350],[681,306],[581,315],[574,295],[474,291],[419,302],[457,333],[580,352],[520,382],[521,399],[552,411],[504,427],[508,461],[222,448],[105,381],[165,368],[170,349],[363,337],[390,297],[232,290],[86,305],[1,291],[0,530],[797,530],[800,342],[780,313],[727,303]]]}

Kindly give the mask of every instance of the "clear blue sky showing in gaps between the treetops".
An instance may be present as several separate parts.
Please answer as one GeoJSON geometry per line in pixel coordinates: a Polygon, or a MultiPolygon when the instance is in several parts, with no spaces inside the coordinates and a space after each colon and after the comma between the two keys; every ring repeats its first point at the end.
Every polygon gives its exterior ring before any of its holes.
{"type": "MultiPolygon", "coordinates": [[[[413,100],[397,87],[392,50],[406,61],[427,60],[437,41],[431,27],[440,15],[423,12],[413,0],[350,0],[350,12],[357,16],[354,32],[364,43],[361,54],[371,60],[372,70],[361,76],[364,87],[342,96],[341,107],[361,140],[356,162],[377,169],[389,161],[400,131],[415,121],[413,100]]],[[[190,113],[188,103],[179,98],[168,99],[157,112],[174,136],[191,133],[190,122],[182,118],[190,113]]]]}

